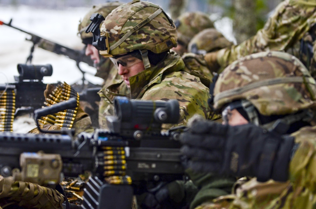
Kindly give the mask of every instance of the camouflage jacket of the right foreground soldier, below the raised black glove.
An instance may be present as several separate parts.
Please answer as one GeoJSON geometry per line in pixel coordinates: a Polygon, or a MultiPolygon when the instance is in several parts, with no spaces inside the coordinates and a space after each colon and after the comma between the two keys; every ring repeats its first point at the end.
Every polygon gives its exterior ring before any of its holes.
{"type": "Polygon", "coordinates": [[[210,208],[314,208],[316,204],[316,126],[305,126],[292,134],[300,146],[289,167],[289,181],[258,182],[256,178],[242,184],[236,194],[205,202],[196,209],[210,208]]]}

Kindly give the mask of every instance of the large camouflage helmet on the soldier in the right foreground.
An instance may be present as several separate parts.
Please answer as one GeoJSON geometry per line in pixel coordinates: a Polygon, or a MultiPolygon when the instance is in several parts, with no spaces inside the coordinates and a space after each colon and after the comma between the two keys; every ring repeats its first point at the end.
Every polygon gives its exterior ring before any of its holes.
{"type": "Polygon", "coordinates": [[[295,56],[265,51],[234,61],[214,87],[214,105],[222,110],[236,100],[250,102],[264,116],[315,109],[315,80],[295,56]]]}

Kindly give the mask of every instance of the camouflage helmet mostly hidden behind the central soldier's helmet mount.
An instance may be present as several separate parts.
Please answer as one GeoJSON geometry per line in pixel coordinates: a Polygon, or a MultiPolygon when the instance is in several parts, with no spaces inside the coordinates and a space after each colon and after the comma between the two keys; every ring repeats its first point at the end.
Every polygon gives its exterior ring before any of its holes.
{"type": "Polygon", "coordinates": [[[85,38],[93,37],[91,32],[85,33],[85,30],[87,29],[88,25],[91,23],[90,17],[93,13],[99,13],[103,17],[106,17],[107,15],[110,14],[110,12],[113,9],[117,8],[119,5],[122,5],[122,4],[123,3],[119,3],[119,2],[107,2],[107,3],[94,5],[92,9],[90,9],[88,13],[83,17],[83,19],[80,20],[79,22],[78,34],[80,35],[80,38],[85,39],[85,38]]]}

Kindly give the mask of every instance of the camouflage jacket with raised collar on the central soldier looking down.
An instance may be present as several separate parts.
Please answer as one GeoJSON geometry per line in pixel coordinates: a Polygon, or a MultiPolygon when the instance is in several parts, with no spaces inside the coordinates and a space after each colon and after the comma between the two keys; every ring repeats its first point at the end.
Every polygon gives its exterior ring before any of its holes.
{"type": "MultiPolygon", "coordinates": [[[[131,99],[162,100],[177,99],[180,105],[180,120],[178,124],[163,125],[169,129],[177,125],[186,125],[187,120],[195,113],[205,119],[210,118],[208,106],[209,89],[201,83],[200,78],[185,71],[185,64],[179,55],[168,54],[155,67],[150,67],[129,78],[131,85],[131,99]]],[[[123,82],[103,88],[99,95],[108,103],[114,96],[121,95],[118,88],[123,82]]],[[[110,109],[110,108],[108,108],[110,109]]]]}

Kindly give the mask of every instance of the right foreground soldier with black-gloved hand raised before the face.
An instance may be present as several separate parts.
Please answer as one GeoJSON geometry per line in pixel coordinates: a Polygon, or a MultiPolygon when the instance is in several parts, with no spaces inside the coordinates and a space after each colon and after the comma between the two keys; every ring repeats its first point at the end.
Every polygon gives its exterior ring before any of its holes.
{"type": "Polygon", "coordinates": [[[181,150],[195,171],[257,178],[197,208],[313,208],[315,93],[307,68],[285,52],[248,55],[226,67],[214,88],[224,125],[195,120],[181,150]]]}

